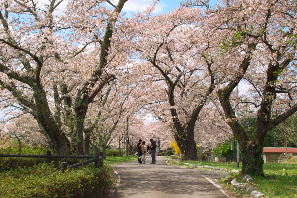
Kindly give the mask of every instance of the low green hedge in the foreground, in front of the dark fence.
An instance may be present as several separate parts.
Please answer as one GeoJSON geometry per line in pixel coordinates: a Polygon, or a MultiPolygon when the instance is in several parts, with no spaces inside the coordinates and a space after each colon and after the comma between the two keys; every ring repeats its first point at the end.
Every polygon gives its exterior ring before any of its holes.
{"type": "Polygon", "coordinates": [[[99,197],[112,183],[111,167],[106,165],[95,168],[91,163],[64,173],[53,170],[56,170],[53,165],[44,163],[0,173],[0,197],[99,197]]]}

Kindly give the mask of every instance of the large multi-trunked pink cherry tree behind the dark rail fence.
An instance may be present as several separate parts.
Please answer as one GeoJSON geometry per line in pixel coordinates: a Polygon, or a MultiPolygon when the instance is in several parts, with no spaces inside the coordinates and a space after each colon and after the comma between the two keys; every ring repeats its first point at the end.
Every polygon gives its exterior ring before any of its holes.
{"type": "Polygon", "coordinates": [[[60,15],[55,11],[62,1],[0,3],[0,84],[19,109],[34,116],[56,153],[69,153],[61,127],[64,109],[72,144],[83,154],[88,106],[116,78],[117,61],[125,62],[122,45],[115,44],[119,37],[111,38],[126,1],[72,1],[60,15]]]}

